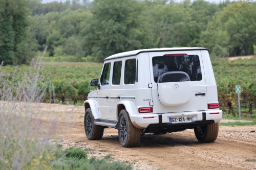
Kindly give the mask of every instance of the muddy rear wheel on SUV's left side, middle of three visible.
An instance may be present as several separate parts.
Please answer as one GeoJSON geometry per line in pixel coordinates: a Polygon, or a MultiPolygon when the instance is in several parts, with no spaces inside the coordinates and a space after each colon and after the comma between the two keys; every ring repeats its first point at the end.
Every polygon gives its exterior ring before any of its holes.
{"type": "Polygon", "coordinates": [[[118,116],[118,138],[122,147],[135,147],[140,141],[140,129],[133,126],[125,109],[118,116]]]}

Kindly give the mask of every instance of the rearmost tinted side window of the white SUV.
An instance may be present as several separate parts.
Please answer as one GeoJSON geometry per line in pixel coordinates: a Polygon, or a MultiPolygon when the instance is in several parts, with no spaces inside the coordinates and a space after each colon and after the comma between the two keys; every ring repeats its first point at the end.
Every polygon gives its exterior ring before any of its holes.
{"type": "Polygon", "coordinates": [[[136,59],[125,61],[124,84],[135,84],[136,81],[136,59]]]}

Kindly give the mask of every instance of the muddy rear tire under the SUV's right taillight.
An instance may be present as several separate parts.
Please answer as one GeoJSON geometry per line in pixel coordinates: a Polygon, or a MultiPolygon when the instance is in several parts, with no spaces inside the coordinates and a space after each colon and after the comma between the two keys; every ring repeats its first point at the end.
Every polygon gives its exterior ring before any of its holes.
{"type": "Polygon", "coordinates": [[[194,128],[195,135],[199,142],[214,142],[219,132],[219,123],[207,124],[194,128]]]}

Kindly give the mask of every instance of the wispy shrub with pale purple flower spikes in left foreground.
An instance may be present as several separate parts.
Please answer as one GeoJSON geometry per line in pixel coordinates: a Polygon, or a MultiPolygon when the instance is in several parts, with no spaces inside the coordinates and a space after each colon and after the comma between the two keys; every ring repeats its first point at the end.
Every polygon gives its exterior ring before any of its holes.
{"type": "Polygon", "coordinates": [[[48,140],[56,123],[45,125],[40,119],[39,102],[48,80],[40,74],[41,58],[17,80],[0,67],[0,167],[35,169],[50,167],[53,148],[48,140]],[[15,95],[13,95],[15,94],[15,95]],[[36,102],[36,103],[35,103],[36,102]]]}

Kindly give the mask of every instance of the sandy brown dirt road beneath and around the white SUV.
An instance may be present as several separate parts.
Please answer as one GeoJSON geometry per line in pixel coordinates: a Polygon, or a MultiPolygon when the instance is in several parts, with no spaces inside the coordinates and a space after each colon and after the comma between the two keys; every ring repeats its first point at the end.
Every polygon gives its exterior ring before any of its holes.
{"type": "MultiPolygon", "coordinates": [[[[87,149],[89,156],[111,155],[113,160],[131,163],[134,169],[256,169],[256,132],[251,132],[256,126],[220,126],[219,136],[213,143],[199,143],[193,130],[145,134],[138,147],[123,148],[113,128],[104,129],[101,140],[87,139],[82,106],[45,104],[43,108],[54,109],[59,116],[72,117],[72,121],[76,121],[74,127],[62,131],[63,148],[87,149]]],[[[65,127],[70,121],[63,119],[59,127],[65,127]]]]}

